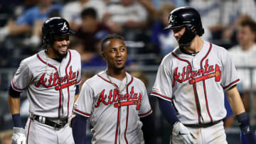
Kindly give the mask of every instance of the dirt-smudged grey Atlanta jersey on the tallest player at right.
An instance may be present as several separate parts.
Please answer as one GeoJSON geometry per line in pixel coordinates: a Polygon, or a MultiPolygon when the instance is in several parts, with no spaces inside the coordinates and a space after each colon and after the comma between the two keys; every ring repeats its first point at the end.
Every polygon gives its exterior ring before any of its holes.
{"type": "Polygon", "coordinates": [[[225,48],[204,41],[195,56],[176,48],[159,66],[151,95],[171,101],[181,123],[225,118],[223,89],[240,81],[225,48]]]}

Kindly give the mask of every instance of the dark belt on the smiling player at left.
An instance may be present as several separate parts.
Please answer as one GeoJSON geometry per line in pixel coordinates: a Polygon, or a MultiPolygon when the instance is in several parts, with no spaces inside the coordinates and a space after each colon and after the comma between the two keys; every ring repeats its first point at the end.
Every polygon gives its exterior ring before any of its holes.
{"type": "Polygon", "coordinates": [[[64,118],[60,120],[60,122],[55,123],[53,121],[50,121],[50,118],[44,117],[44,116],[37,116],[33,115],[31,119],[36,120],[40,123],[46,124],[48,126],[52,126],[53,128],[63,128],[68,123],[68,118],[64,118]]]}

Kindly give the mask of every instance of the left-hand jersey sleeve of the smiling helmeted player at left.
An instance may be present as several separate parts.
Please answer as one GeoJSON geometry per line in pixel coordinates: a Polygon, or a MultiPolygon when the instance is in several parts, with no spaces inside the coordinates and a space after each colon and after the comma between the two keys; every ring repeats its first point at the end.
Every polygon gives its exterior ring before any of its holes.
{"type": "Polygon", "coordinates": [[[31,79],[33,79],[33,74],[26,64],[26,61],[23,60],[14,74],[14,78],[11,80],[11,87],[17,92],[22,92],[28,87],[31,79]]]}

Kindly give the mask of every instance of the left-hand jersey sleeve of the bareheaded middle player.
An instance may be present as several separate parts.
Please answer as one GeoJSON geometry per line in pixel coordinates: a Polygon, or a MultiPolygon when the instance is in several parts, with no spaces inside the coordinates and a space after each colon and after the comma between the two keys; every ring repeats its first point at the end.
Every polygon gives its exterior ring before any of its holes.
{"type": "Polygon", "coordinates": [[[74,104],[74,112],[81,116],[90,117],[93,105],[92,88],[86,82],[82,84],[81,92],[74,104]]]}

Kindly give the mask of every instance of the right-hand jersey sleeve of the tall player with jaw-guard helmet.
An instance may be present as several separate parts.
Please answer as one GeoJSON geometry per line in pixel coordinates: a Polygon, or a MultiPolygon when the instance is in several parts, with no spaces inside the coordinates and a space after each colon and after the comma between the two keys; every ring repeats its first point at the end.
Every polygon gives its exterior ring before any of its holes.
{"type": "Polygon", "coordinates": [[[230,55],[228,55],[228,52],[225,52],[225,57],[223,57],[223,70],[221,79],[221,85],[225,90],[240,82],[238,73],[235,69],[235,65],[233,64],[230,55]]]}

